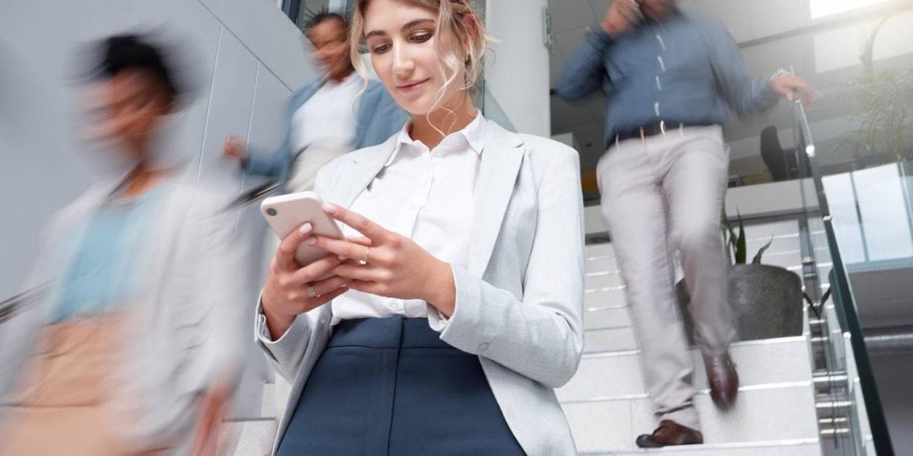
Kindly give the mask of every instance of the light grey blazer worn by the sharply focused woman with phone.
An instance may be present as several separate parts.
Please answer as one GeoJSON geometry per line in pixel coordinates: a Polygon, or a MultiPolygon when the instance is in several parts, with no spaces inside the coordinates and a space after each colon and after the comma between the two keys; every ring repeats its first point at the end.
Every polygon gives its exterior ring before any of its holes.
{"type": "MultiPolygon", "coordinates": [[[[478,355],[498,406],[527,454],[575,454],[553,389],[572,378],[583,348],[579,157],[553,140],[486,122],[469,263],[467,269],[454,268],[456,311],[441,339],[478,355]]],[[[316,191],[325,201],[350,207],[395,145],[394,135],[331,161],[320,170],[316,191]]],[[[331,313],[331,306],[321,306],[299,316],[285,335],[269,342],[257,309],[257,343],[292,382],[276,445],[331,337],[331,313]]],[[[432,328],[437,319],[429,307],[432,328]]]]}

